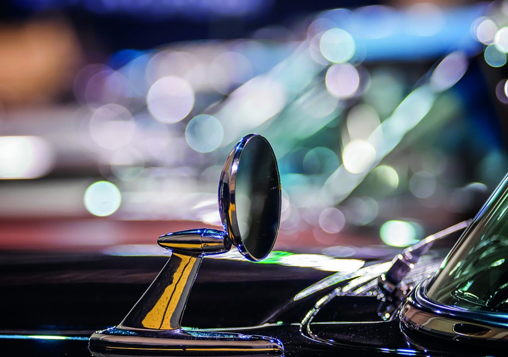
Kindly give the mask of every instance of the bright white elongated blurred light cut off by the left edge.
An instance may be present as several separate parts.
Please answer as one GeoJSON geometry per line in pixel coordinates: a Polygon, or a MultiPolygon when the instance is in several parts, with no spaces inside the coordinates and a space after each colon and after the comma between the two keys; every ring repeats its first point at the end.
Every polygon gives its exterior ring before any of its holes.
{"type": "Polygon", "coordinates": [[[55,153],[43,138],[0,137],[0,179],[33,179],[46,175],[55,164],[55,153]]]}

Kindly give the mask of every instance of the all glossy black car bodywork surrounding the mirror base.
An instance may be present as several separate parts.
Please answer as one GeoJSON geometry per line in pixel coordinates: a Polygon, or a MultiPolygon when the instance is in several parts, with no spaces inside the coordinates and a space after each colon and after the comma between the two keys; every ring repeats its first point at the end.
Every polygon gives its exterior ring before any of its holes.
{"type": "MultiPolygon", "coordinates": [[[[9,355],[89,356],[91,332],[120,320],[166,260],[164,256],[102,254],[0,255],[0,349],[9,355]],[[27,338],[34,335],[74,339],[27,338]]],[[[301,316],[325,293],[304,299],[298,304],[300,309],[282,307],[329,272],[208,258],[203,265],[190,293],[183,326],[276,337],[284,343],[286,356],[502,355],[499,344],[464,347],[407,333],[401,330],[398,318],[374,322],[378,301],[372,297],[332,299],[315,315],[309,334],[300,323],[301,316]],[[205,299],[223,308],[207,310],[205,299]],[[238,299],[248,304],[248,314],[230,308],[229,302],[238,299]],[[249,328],[265,322],[271,323],[249,328]]]]}

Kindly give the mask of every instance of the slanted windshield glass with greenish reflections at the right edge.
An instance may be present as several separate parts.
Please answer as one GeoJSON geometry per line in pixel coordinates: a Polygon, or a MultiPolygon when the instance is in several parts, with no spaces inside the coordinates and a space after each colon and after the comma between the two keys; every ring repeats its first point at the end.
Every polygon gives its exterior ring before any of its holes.
{"type": "Polygon", "coordinates": [[[440,304],[508,311],[508,175],[473,219],[427,288],[440,304]]]}

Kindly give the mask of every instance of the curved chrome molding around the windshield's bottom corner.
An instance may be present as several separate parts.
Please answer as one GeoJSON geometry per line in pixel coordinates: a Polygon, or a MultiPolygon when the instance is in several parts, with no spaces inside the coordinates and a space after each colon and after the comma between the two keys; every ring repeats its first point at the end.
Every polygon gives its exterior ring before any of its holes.
{"type": "Polygon", "coordinates": [[[402,305],[400,321],[404,327],[453,340],[508,340],[508,328],[502,324],[507,320],[505,314],[496,314],[499,321],[492,321],[492,314],[485,318],[485,313],[436,304],[425,296],[427,283],[418,285],[402,305]]]}

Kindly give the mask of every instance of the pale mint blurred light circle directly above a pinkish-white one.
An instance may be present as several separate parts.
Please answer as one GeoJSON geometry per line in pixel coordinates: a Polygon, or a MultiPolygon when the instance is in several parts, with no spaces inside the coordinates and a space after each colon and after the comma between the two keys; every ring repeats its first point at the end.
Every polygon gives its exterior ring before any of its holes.
{"type": "Polygon", "coordinates": [[[331,28],[321,37],[320,49],[330,62],[347,62],[355,54],[355,41],[347,31],[331,28]]]}

